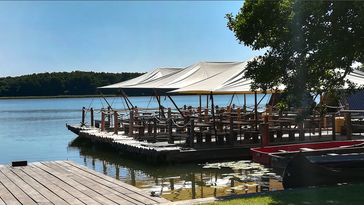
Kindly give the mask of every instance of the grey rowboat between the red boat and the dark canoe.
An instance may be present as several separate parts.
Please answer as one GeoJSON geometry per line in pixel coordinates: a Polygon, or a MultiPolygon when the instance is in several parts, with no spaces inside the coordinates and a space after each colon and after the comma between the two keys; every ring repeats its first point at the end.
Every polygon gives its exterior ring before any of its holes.
{"type": "MultiPolygon", "coordinates": [[[[335,165],[346,162],[364,161],[364,147],[339,148],[315,151],[302,151],[307,158],[317,165],[335,165]]],[[[268,154],[273,169],[284,169],[297,152],[268,154]]]]}

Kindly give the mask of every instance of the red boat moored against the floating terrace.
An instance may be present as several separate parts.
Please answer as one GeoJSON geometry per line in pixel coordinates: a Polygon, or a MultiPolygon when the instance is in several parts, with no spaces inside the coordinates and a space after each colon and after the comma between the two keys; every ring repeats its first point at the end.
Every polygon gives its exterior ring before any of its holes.
{"type": "Polygon", "coordinates": [[[289,144],[289,145],[264,147],[264,148],[251,148],[250,150],[252,150],[254,161],[270,164],[270,157],[268,156],[268,154],[277,154],[282,152],[328,150],[328,149],[363,147],[363,146],[364,146],[363,140],[351,140],[351,141],[338,141],[338,142],[289,144]]]}

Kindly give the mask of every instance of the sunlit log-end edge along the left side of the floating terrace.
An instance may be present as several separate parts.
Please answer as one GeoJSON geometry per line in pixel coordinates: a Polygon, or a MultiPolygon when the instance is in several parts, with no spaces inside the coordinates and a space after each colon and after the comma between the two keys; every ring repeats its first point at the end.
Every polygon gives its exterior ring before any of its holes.
{"type": "Polygon", "coordinates": [[[111,144],[117,150],[125,150],[155,157],[167,152],[180,151],[180,148],[176,144],[139,142],[125,135],[115,135],[106,131],[99,131],[97,128],[81,127],[80,125],[67,125],[67,128],[81,137],[91,139],[95,142],[111,144]]]}

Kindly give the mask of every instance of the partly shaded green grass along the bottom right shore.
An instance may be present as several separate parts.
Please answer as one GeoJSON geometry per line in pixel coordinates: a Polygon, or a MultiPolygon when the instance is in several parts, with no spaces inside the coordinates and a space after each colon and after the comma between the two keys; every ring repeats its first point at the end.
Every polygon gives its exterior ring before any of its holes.
{"type": "Polygon", "coordinates": [[[309,188],[289,193],[237,198],[204,205],[362,205],[364,183],[309,188]]]}

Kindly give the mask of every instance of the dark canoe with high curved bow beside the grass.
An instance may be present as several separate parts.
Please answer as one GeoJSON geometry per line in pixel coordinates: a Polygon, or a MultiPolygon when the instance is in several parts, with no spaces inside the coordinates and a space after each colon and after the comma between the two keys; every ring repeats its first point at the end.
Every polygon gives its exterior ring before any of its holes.
{"type": "Polygon", "coordinates": [[[284,189],[359,181],[364,181],[363,161],[320,166],[312,163],[304,152],[298,152],[289,160],[282,177],[284,189]]]}

